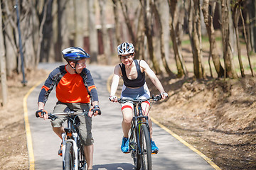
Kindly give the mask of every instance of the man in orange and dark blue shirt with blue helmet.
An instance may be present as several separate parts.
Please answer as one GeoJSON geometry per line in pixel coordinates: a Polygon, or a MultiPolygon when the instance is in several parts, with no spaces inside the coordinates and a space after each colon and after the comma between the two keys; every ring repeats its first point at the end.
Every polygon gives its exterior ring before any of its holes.
{"type": "MultiPolygon", "coordinates": [[[[37,113],[41,118],[48,119],[48,113],[44,110],[44,106],[54,86],[58,102],[53,113],[63,113],[67,107],[73,111],[89,111],[89,116],[79,115],[79,130],[84,146],[87,169],[92,169],[94,140],[91,132],[92,111],[90,111],[90,103],[92,103],[93,108],[99,109],[99,101],[92,75],[85,64],[90,55],[80,47],[68,47],[62,51],[62,54],[68,64],[60,65],[60,67],[50,72],[38,96],[37,113]]],[[[97,113],[94,113],[94,115],[97,115],[97,113]]],[[[62,124],[65,120],[65,116],[51,120],[53,131],[60,139],[64,132],[62,124]]]]}

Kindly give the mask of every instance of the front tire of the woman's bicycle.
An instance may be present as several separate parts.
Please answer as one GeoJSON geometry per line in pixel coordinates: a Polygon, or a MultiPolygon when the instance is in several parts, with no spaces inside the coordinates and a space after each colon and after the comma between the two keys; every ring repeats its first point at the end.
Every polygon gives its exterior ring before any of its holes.
{"type": "Polygon", "coordinates": [[[151,159],[151,140],[149,134],[149,128],[145,124],[142,124],[139,133],[139,144],[142,149],[142,169],[151,170],[152,169],[152,159],[151,159]]]}

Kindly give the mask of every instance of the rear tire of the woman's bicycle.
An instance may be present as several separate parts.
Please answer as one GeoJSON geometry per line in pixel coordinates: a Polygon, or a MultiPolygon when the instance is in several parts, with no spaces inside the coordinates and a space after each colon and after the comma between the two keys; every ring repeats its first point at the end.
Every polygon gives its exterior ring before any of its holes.
{"type": "Polygon", "coordinates": [[[132,152],[132,159],[134,160],[134,166],[136,170],[139,170],[142,166],[142,159],[141,155],[138,151],[138,141],[137,141],[137,135],[136,135],[136,128],[132,126],[131,128],[131,135],[129,139],[129,147],[132,152]]]}

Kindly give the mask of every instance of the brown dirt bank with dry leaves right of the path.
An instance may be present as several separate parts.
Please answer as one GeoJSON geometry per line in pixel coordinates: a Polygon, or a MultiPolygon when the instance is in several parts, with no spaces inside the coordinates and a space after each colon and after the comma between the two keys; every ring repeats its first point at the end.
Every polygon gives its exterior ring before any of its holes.
{"type": "Polygon", "coordinates": [[[152,117],[220,169],[256,169],[255,78],[162,82],[170,97],[151,108],[152,117]]]}

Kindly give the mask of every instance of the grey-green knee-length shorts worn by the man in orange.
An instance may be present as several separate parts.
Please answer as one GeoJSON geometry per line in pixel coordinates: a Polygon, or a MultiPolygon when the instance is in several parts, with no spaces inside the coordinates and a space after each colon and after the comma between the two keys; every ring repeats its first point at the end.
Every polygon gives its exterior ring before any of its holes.
{"type": "MultiPolygon", "coordinates": [[[[53,113],[63,113],[67,107],[74,111],[90,110],[89,103],[62,103],[58,101],[53,109],[53,113]]],[[[92,137],[92,118],[85,115],[78,115],[78,118],[80,119],[80,126],[78,128],[82,145],[92,145],[94,143],[92,137]]],[[[55,120],[51,120],[51,125],[53,128],[60,128],[63,126],[65,120],[67,120],[65,116],[58,116],[55,120]]]]}

